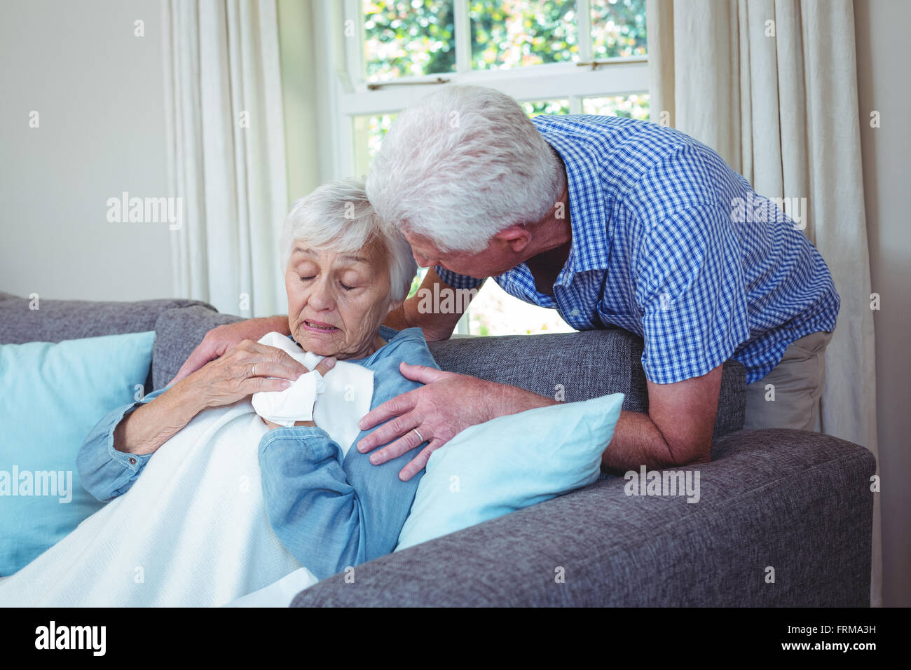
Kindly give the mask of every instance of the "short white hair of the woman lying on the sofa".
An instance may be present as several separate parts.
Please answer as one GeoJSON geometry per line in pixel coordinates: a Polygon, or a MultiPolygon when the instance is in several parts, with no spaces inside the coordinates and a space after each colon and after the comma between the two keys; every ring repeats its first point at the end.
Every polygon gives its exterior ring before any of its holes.
{"type": "Polygon", "coordinates": [[[395,302],[405,299],[417,273],[411,245],[380,219],[357,177],[322,184],[294,201],[281,231],[281,267],[288,267],[295,242],[336,253],[379,244],[389,263],[389,297],[395,302]]]}

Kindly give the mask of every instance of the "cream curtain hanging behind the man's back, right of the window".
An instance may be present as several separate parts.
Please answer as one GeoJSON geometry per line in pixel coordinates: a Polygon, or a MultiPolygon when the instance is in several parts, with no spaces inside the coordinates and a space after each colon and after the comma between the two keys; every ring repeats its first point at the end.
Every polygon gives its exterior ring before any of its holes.
{"type": "MultiPolygon", "coordinates": [[[[851,0],[649,0],[651,118],[717,150],[767,197],[806,198],[841,311],[820,428],[873,451],[870,264],[851,0]]],[[[882,604],[875,496],[871,604],[882,604]]]]}

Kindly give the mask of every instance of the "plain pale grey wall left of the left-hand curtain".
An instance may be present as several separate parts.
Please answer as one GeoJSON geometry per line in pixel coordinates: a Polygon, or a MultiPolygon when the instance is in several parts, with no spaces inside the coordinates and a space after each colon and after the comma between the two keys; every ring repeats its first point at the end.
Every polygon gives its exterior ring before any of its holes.
{"type": "Polygon", "coordinates": [[[106,204],[168,195],[160,26],[159,0],[0,2],[0,291],[172,295],[168,224],[106,204]]]}

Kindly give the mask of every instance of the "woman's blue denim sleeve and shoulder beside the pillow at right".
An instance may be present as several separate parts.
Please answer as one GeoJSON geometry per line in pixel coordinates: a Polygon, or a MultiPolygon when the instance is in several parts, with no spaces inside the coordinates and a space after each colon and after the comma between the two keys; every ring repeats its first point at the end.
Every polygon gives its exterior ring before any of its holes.
{"type": "MultiPolygon", "coordinates": [[[[398,370],[401,361],[439,369],[419,329],[374,369],[374,401],[422,386],[398,370]]],[[[415,449],[381,465],[354,445],[343,456],[322,428],[273,428],[260,440],[262,496],[272,530],[292,556],[319,579],[393,551],[424,471],[408,481],[398,473],[415,449]]],[[[375,452],[375,449],[374,449],[375,452]]],[[[371,453],[374,453],[371,452],[371,453]]]]}

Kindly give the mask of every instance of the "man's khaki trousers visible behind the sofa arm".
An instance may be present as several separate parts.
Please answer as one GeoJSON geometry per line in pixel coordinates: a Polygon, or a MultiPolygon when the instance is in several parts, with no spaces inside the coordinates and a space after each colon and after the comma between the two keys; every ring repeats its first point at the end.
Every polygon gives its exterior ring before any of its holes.
{"type": "Polygon", "coordinates": [[[746,387],[744,430],[819,429],[825,347],[831,339],[832,333],[821,331],[794,340],[772,372],[746,387]]]}

